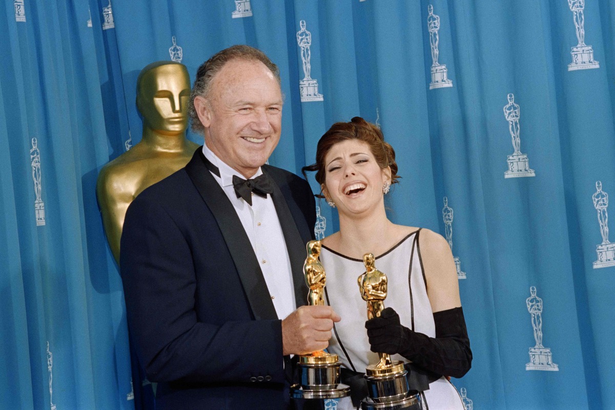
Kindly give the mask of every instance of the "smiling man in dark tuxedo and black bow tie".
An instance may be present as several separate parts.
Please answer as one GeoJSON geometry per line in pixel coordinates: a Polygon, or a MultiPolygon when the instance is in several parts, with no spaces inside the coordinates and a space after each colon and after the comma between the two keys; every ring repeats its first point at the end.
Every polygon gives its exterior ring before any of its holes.
{"type": "Polygon", "coordinates": [[[204,147],[143,191],[124,223],[141,365],[159,382],[157,409],[288,408],[290,355],[327,347],[339,317],[295,309],[308,295],[314,198],[303,179],[264,165],[281,132],[276,65],[252,47],[222,50],[197,72],[190,115],[204,147]]]}

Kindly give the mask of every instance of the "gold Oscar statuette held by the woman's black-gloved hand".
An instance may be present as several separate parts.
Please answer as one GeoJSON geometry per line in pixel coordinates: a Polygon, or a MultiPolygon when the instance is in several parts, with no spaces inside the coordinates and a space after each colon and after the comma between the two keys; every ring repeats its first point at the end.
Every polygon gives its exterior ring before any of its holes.
{"type": "MultiPolygon", "coordinates": [[[[357,281],[363,300],[367,301],[367,319],[380,317],[384,310],[384,300],[387,296],[386,274],[375,267],[376,258],[373,253],[363,255],[365,272],[357,281]]],[[[378,353],[379,361],[368,365],[365,369],[368,397],[361,402],[363,410],[398,410],[418,409],[418,396],[409,392],[403,362],[391,360],[391,355],[378,353]]]]}

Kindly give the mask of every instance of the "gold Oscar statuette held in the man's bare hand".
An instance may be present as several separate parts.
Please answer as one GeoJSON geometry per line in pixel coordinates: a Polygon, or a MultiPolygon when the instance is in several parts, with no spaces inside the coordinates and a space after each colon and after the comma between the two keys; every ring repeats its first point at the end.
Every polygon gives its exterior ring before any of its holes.
{"type": "MultiPolygon", "coordinates": [[[[309,306],[324,306],[327,276],[320,263],[320,241],[309,241],[308,257],[303,264],[303,273],[309,287],[309,306]]],[[[298,366],[301,381],[291,386],[292,398],[338,398],[350,393],[350,387],[339,383],[338,355],[323,350],[300,355],[298,366]]]]}

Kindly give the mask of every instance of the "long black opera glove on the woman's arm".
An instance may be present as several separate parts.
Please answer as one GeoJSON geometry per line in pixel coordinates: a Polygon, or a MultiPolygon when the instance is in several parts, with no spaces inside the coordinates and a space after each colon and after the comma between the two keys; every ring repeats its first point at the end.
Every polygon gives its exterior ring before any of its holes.
{"type": "Polygon", "coordinates": [[[402,326],[392,308],[365,322],[371,351],[400,354],[428,371],[462,377],[472,366],[472,350],[461,308],[434,313],[435,338],[402,326]]]}

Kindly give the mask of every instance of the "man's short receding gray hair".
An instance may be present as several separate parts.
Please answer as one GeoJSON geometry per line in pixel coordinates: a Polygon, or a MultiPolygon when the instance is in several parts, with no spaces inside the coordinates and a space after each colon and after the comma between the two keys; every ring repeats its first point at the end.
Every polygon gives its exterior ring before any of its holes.
{"type": "Polygon", "coordinates": [[[274,77],[276,77],[277,83],[281,85],[280,70],[276,64],[269,60],[269,57],[265,53],[258,50],[258,48],[250,47],[249,45],[232,45],[229,48],[215,53],[201,64],[199,70],[196,73],[196,80],[192,86],[190,93],[190,101],[188,103],[188,115],[190,117],[191,128],[195,133],[204,133],[205,128],[199,120],[199,115],[194,109],[194,98],[196,96],[202,96],[207,98],[207,95],[212,87],[212,80],[218,72],[223,68],[224,64],[231,60],[248,60],[248,61],[260,61],[271,70],[274,77]]]}

